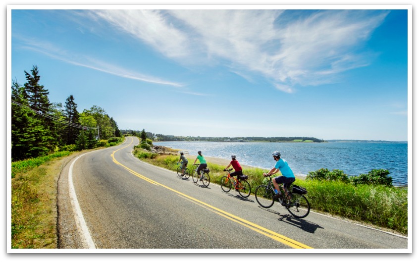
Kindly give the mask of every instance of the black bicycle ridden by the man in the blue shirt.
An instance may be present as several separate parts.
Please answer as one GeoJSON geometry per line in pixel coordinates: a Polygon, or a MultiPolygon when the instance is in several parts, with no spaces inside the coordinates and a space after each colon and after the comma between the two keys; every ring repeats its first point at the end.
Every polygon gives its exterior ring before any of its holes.
{"type": "MultiPolygon", "coordinates": [[[[299,187],[297,185],[292,186],[290,192],[289,189],[285,188],[284,192],[282,187],[279,187],[282,197],[278,198],[278,202],[284,206],[288,212],[293,216],[298,218],[306,217],[310,212],[310,203],[307,198],[304,196],[307,194],[305,188],[299,187]]],[[[269,176],[269,182],[267,185],[260,185],[255,190],[256,201],[261,205],[261,207],[268,209],[273,206],[275,199],[273,196],[274,187],[272,185],[272,178],[269,176]]]]}

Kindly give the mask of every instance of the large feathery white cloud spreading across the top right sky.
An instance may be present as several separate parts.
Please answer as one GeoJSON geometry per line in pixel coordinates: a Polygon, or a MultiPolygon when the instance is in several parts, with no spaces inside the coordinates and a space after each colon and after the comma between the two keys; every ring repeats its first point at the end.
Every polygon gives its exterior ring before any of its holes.
{"type": "MultiPolygon", "coordinates": [[[[217,62],[241,75],[262,75],[273,86],[336,81],[367,66],[359,51],[388,11],[380,10],[94,10],[119,31],[181,63],[217,62]]],[[[239,74],[239,75],[240,75],[239,74]]]]}

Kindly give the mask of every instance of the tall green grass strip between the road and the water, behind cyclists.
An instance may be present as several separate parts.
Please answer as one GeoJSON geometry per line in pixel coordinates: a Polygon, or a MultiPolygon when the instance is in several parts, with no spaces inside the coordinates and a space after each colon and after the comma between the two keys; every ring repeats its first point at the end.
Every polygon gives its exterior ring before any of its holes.
{"type": "MultiPolygon", "coordinates": [[[[135,150],[134,155],[151,164],[176,171],[178,156],[159,156],[142,150],[135,150]],[[147,157],[145,157],[147,156],[147,157]]],[[[188,158],[192,174],[192,163],[188,158]]],[[[225,166],[208,163],[211,183],[219,184],[220,178],[226,173],[225,166]]],[[[243,168],[249,176],[248,182],[252,194],[257,186],[267,183],[261,168],[243,168]]],[[[307,188],[306,196],[313,210],[342,216],[365,224],[394,230],[407,235],[408,230],[408,198],[406,188],[395,188],[372,185],[352,185],[336,181],[302,180],[296,178],[294,184],[307,188]]]]}

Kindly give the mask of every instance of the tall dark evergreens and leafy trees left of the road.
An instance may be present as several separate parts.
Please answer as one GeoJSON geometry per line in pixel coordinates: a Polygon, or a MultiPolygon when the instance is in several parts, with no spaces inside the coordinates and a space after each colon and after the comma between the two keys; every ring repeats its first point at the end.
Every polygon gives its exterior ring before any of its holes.
{"type": "Polygon", "coordinates": [[[99,140],[122,136],[116,121],[100,106],[79,113],[73,95],[64,105],[51,103],[36,65],[25,71],[25,78],[23,86],[13,80],[11,87],[12,160],[91,149],[99,140]]]}

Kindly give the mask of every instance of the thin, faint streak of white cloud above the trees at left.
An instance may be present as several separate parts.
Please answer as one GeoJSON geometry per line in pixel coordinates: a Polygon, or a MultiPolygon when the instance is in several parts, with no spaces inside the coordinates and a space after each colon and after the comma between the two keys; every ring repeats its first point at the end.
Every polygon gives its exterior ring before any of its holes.
{"type": "Polygon", "coordinates": [[[158,77],[145,75],[139,72],[135,72],[118,65],[107,63],[103,60],[96,59],[94,57],[85,56],[81,54],[74,54],[71,55],[62,49],[57,48],[56,46],[52,45],[51,43],[42,42],[39,40],[34,39],[21,39],[22,43],[24,43],[23,48],[30,49],[34,52],[43,53],[47,56],[52,57],[53,59],[61,60],[69,64],[74,64],[77,66],[87,67],[93,70],[101,71],[107,74],[116,75],[123,78],[134,79],[143,82],[149,82],[154,84],[160,85],[169,85],[174,87],[182,87],[183,84],[167,81],[164,79],[160,79],[158,77]]]}

